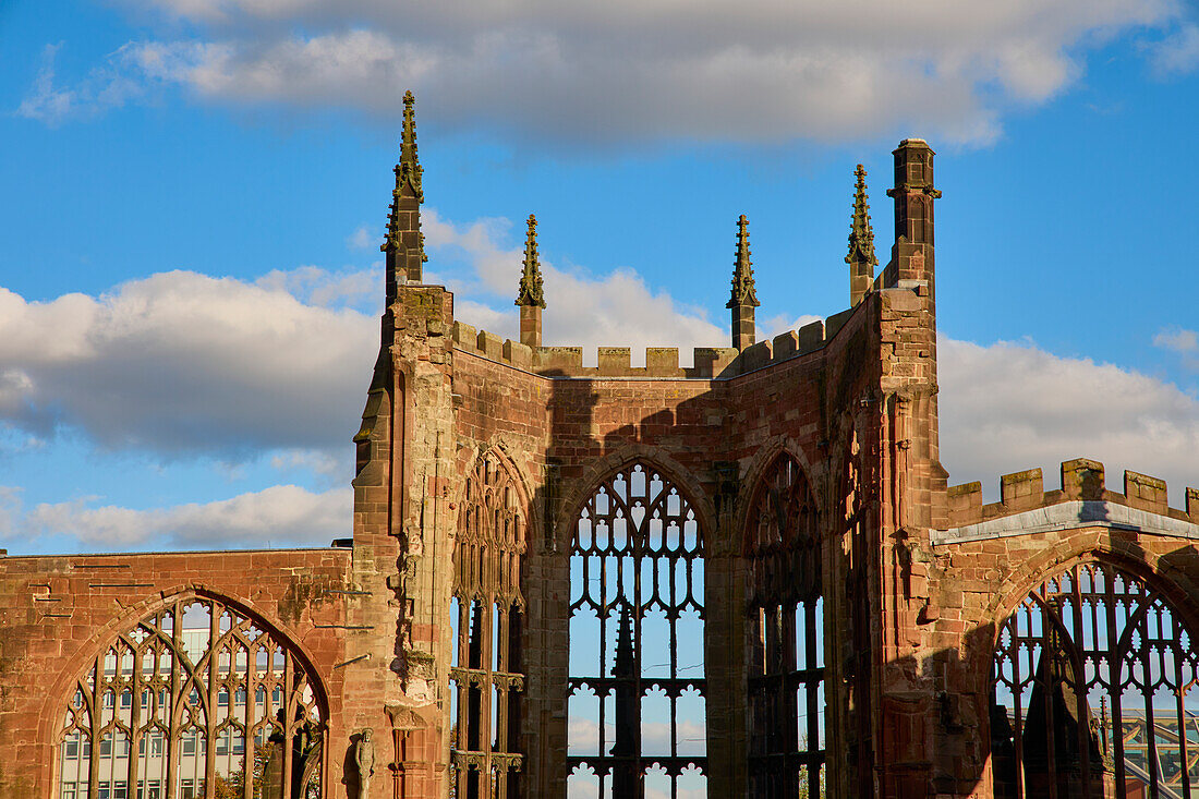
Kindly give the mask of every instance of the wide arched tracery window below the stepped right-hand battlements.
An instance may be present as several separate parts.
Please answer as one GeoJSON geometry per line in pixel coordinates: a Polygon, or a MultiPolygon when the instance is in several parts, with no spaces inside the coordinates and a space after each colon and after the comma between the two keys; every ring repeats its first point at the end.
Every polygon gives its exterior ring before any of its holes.
{"type": "Polygon", "coordinates": [[[995,797],[1195,795],[1197,681],[1191,631],[1144,581],[1099,563],[1044,581],[995,644],[995,797]]]}

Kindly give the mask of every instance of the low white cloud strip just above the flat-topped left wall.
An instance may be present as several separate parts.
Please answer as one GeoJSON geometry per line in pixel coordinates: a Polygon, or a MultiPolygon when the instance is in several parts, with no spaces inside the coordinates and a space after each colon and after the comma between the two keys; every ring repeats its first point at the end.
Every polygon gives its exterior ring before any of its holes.
{"type": "MultiPolygon", "coordinates": [[[[0,489],[0,507],[6,494],[0,489]]],[[[8,494],[12,498],[12,494],[8,494]]],[[[271,486],[212,503],[133,510],[97,505],[95,498],[40,504],[0,522],[23,537],[68,535],[89,547],[129,549],[146,543],[182,549],[329,546],[351,533],[350,488],[312,493],[297,486],[271,486]]]]}

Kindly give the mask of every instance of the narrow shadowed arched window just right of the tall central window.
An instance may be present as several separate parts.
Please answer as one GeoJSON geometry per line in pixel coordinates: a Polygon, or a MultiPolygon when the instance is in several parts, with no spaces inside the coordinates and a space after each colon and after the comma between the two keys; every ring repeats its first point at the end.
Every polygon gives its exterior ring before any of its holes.
{"type": "Polygon", "coordinates": [[[749,509],[749,787],[754,797],[824,795],[824,602],[808,481],[788,453],[749,509]]]}

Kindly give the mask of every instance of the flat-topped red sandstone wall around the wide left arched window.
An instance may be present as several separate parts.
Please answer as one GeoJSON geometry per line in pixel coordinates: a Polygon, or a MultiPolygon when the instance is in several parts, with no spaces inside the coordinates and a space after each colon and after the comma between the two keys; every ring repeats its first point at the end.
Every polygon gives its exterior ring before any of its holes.
{"type": "MultiPolygon", "coordinates": [[[[0,557],[0,797],[50,797],[58,734],[74,680],[122,630],[180,594],[239,605],[308,660],[339,725],[349,549],[0,557]],[[324,626],[332,625],[332,626],[324,626]]],[[[343,752],[326,750],[330,797],[343,752]]]]}

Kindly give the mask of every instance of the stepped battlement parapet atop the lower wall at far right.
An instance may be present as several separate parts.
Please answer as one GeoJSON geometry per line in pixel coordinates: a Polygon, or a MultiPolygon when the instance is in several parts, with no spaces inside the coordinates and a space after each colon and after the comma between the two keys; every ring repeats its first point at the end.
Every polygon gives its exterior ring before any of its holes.
{"type": "Polygon", "coordinates": [[[1169,506],[1164,480],[1139,471],[1125,471],[1123,493],[1108,491],[1103,464],[1090,458],[1074,458],[1061,464],[1060,489],[1044,489],[1041,469],[1005,474],[999,479],[999,489],[1000,501],[984,505],[981,482],[950,486],[950,523],[965,527],[1067,501],[1083,501],[1113,503],[1199,524],[1199,489],[1187,488],[1186,510],[1169,506]]]}

